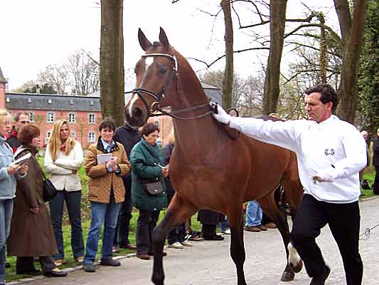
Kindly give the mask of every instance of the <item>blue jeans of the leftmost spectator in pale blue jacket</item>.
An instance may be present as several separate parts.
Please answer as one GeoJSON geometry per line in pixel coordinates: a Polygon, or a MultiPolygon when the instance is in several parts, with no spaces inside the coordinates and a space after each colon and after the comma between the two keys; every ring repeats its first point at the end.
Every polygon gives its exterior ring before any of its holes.
{"type": "Polygon", "coordinates": [[[14,199],[0,200],[0,283],[5,278],[6,239],[11,229],[14,199]]]}

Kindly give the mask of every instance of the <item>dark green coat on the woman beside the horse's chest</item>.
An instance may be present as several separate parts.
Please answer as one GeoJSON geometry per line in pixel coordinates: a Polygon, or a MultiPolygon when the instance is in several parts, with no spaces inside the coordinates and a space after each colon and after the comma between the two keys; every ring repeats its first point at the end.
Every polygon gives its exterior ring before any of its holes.
{"type": "Polygon", "coordinates": [[[133,206],[144,211],[159,211],[167,207],[166,183],[161,167],[157,165],[164,165],[158,145],[149,145],[149,142],[142,138],[132,149],[130,163],[132,164],[133,206]],[[161,182],[164,192],[151,196],[144,190],[143,183],[156,181],[161,182]]]}

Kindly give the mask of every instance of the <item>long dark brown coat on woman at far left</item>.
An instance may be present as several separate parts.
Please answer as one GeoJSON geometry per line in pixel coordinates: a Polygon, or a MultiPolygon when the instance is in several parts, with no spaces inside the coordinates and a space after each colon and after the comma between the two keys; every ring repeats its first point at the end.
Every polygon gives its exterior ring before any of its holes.
{"type": "Polygon", "coordinates": [[[17,181],[11,233],[7,242],[8,254],[16,257],[47,257],[57,252],[57,244],[51,227],[50,216],[43,202],[43,172],[36,160],[35,147],[28,148],[18,157],[32,153],[28,160],[28,174],[17,181]],[[31,208],[39,208],[33,214],[31,208]]]}

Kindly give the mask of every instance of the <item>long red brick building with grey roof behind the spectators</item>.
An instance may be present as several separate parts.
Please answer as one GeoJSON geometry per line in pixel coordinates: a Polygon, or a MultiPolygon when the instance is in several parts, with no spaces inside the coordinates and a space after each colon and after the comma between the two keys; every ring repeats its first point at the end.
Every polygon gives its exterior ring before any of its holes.
{"type": "MultiPolygon", "coordinates": [[[[9,93],[6,92],[6,78],[0,68],[0,108],[6,108],[11,114],[26,111],[30,114],[31,122],[41,130],[41,138],[46,143],[50,136],[53,123],[59,118],[65,118],[70,124],[73,138],[78,140],[83,148],[97,141],[98,125],[102,120],[100,92],[86,96],[9,93]]],[[[222,103],[220,90],[214,86],[202,83],[206,95],[210,100],[222,103]]],[[[133,86],[126,86],[132,90],[133,86]]],[[[125,94],[125,102],[130,93],[125,94]]],[[[171,118],[168,116],[149,118],[149,122],[156,123],[161,129],[161,144],[168,142],[172,128],[171,118]]]]}

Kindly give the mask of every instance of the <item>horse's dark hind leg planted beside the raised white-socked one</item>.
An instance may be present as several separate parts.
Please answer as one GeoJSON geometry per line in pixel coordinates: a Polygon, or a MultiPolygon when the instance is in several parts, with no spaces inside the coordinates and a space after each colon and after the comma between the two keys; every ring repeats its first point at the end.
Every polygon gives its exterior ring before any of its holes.
{"type": "Polygon", "coordinates": [[[295,274],[288,262],[289,226],[287,222],[287,215],[284,214],[284,212],[280,211],[279,207],[277,207],[273,193],[270,193],[269,195],[259,199],[258,202],[260,203],[260,206],[262,207],[265,214],[267,214],[267,216],[270,217],[272,221],[277,225],[277,229],[282,235],[284,248],[286,250],[287,265],[283,271],[282,278],[280,280],[292,281],[294,280],[295,274]]]}

